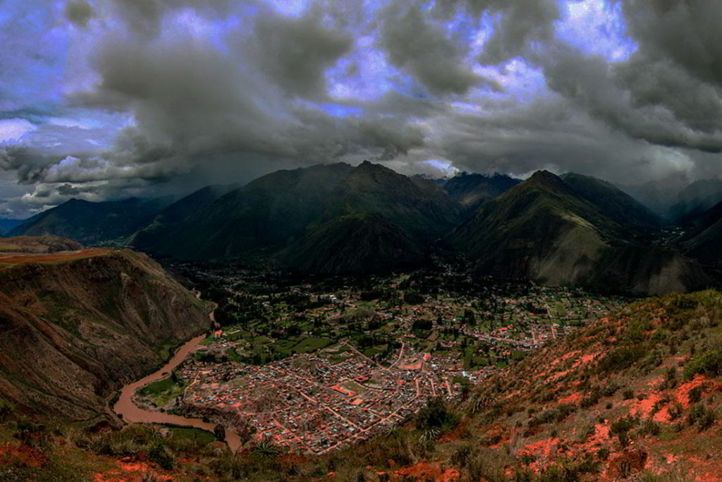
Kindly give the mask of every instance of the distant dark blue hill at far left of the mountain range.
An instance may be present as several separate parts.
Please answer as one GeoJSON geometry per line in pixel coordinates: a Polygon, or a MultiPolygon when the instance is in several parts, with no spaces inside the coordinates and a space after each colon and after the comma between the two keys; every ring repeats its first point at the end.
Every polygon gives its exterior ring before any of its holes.
{"type": "Polygon", "coordinates": [[[70,199],[28,218],[7,236],[64,236],[86,245],[123,241],[169,204],[167,198],[107,202],[70,199]]]}

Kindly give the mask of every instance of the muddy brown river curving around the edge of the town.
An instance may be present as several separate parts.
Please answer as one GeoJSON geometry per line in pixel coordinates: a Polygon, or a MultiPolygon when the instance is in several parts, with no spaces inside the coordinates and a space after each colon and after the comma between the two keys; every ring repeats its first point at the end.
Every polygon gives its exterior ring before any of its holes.
{"type": "MultiPolygon", "coordinates": [[[[135,405],[133,402],[133,395],[136,390],[145,385],[156,382],[157,380],[167,378],[170,376],[170,372],[175,369],[176,366],[183,363],[183,360],[193,352],[201,341],[203,341],[205,335],[197,336],[191,340],[188,340],[181,348],[175,351],[173,358],[170,358],[168,363],[165,363],[159,370],[144,376],[137,382],[126,385],[121,390],[121,397],[118,398],[118,402],[113,406],[113,411],[118,415],[123,416],[123,420],[129,423],[172,423],[173,425],[189,426],[196,429],[203,429],[207,431],[213,431],[216,424],[204,422],[200,418],[188,418],[170,413],[154,412],[151,410],[143,410],[135,405]]],[[[240,449],[240,437],[238,434],[226,427],[225,429],[226,443],[232,452],[237,452],[240,449]]]]}

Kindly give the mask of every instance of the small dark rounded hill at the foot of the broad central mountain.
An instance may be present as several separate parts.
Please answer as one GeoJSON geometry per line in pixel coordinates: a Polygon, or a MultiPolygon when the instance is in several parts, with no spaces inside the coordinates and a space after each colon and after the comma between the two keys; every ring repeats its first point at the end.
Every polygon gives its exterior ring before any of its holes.
{"type": "Polygon", "coordinates": [[[424,256],[417,244],[383,216],[357,213],[311,228],[275,259],[293,270],[336,275],[414,267],[424,256]]]}

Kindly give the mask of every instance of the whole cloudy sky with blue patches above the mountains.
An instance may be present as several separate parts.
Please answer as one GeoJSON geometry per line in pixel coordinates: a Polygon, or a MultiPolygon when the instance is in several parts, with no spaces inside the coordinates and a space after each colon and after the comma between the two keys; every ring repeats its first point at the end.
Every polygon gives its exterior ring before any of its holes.
{"type": "Polygon", "coordinates": [[[722,2],[0,0],[0,218],[368,159],[722,176],[722,2]]]}

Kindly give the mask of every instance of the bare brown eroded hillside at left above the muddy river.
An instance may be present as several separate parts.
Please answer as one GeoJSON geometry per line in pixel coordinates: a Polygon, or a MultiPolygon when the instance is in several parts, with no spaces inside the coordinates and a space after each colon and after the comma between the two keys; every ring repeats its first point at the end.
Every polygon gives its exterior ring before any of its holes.
{"type": "Polygon", "coordinates": [[[133,251],[0,255],[0,395],[75,419],[208,327],[207,309],[133,251]]]}

